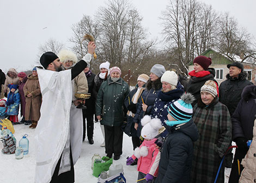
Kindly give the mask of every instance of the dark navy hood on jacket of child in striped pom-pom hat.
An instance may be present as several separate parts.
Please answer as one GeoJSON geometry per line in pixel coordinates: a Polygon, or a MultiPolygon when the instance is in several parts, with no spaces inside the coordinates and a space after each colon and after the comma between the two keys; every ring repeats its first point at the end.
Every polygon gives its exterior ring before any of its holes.
{"type": "Polygon", "coordinates": [[[169,134],[173,134],[174,132],[182,132],[185,135],[189,136],[192,141],[197,141],[199,134],[197,130],[197,125],[194,124],[193,119],[190,119],[187,123],[174,125],[173,127],[166,126],[165,127],[169,134]]]}

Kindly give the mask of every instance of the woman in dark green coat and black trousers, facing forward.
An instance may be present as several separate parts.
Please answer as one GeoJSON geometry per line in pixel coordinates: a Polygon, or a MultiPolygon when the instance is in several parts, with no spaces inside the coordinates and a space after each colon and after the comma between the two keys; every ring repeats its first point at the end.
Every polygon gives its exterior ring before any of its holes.
{"type": "Polygon", "coordinates": [[[105,151],[109,158],[114,154],[118,160],[123,147],[123,130],[121,125],[126,116],[125,97],[129,95],[129,85],[120,78],[119,67],[112,67],[110,78],[101,84],[97,94],[95,115],[105,129],[105,151]]]}

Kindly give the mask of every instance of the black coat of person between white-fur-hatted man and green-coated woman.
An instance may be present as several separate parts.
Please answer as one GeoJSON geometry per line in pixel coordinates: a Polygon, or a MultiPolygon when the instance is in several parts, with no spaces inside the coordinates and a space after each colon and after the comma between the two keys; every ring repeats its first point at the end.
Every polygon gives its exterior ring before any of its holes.
{"type": "Polygon", "coordinates": [[[94,115],[95,113],[95,100],[96,98],[94,97],[94,94],[92,93],[93,92],[93,87],[94,87],[94,78],[95,78],[95,75],[94,73],[92,73],[92,75],[90,75],[88,78],[87,78],[87,83],[88,83],[88,93],[91,94],[91,97],[89,99],[86,99],[86,106],[87,106],[87,109],[84,109],[84,112],[86,113],[90,113],[92,115],[94,115]]]}

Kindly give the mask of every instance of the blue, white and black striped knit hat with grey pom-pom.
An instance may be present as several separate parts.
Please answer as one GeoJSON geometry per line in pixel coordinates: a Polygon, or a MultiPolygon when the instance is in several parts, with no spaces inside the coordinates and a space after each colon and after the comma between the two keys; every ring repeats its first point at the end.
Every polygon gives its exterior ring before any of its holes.
{"type": "Polygon", "coordinates": [[[184,93],[179,100],[168,106],[168,113],[177,121],[186,123],[190,121],[193,115],[193,107],[191,103],[194,97],[191,93],[184,93]]]}

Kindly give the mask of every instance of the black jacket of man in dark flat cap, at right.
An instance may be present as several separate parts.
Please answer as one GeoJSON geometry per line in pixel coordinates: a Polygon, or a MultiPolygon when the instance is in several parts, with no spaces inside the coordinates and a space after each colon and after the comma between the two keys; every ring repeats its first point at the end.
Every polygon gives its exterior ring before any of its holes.
{"type": "Polygon", "coordinates": [[[227,80],[223,81],[219,87],[219,100],[227,106],[230,116],[235,112],[235,108],[241,99],[243,89],[253,83],[247,80],[247,73],[242,72],[238,78],[231,78],[227,74],[227,80]]]}

